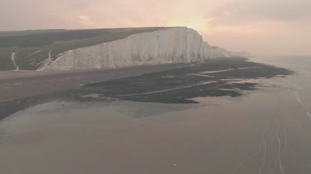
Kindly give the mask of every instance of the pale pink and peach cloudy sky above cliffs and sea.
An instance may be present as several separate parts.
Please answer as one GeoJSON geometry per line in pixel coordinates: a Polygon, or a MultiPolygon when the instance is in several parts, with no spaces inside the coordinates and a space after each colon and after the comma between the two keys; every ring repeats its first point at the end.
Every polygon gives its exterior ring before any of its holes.
{"type": "Polygon", "coordinates": [[[311,0],[0,0],[0,31],[188,26],[213,46],[311,55],[311,0]]]}

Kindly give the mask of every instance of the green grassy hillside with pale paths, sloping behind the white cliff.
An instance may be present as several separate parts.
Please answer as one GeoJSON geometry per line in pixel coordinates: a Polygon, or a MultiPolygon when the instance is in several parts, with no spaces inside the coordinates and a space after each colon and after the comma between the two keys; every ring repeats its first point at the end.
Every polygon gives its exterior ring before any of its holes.
{"type": "Polygon", "coordinates": [[[20,70],[36,70],[48,59],[50,51],[54,60],[56,55],[68,50],[161,29],[164,27],[0,32],[0,71],[15,70],[12,52],[16,53],[15,62],[20,70]]]}

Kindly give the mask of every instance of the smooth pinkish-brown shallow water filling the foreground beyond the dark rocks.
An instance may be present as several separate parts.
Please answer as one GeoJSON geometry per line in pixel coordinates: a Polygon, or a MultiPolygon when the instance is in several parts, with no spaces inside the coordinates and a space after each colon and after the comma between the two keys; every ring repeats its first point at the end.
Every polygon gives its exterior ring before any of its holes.
{"type": "Polygon", "coordinates": [[[261,90],[238,98],[50,102],[16,112],[0,122],[0,171],[310,173],[311,60],[288,59],[256,58],[297,73],[257,79],[261,90]]]}

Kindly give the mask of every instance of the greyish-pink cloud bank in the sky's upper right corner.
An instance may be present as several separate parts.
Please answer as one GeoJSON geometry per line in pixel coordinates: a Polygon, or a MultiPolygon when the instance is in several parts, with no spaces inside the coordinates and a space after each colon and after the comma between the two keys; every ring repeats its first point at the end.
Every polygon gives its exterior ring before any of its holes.
{"type": "Polygon", "coordinates": [[[307,22],[311,19],[309,0],[239,0],[211,9],[211,25],[240,25],[257,21],[307,22]]]}

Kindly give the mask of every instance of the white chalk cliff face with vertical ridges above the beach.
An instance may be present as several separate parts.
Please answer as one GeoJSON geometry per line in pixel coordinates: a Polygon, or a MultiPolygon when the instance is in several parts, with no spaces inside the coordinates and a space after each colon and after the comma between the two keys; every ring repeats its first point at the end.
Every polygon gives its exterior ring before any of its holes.
{"type": "Polygon", "coordinates": [[[227,50],[210,46],[195,30],[173,27],[70,50],[40,69],[70,70],[189,63],[224,56],[229,56],[227,50]]]}

